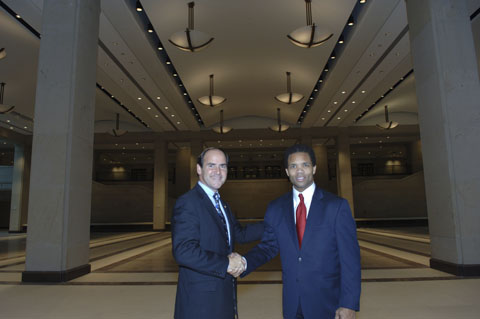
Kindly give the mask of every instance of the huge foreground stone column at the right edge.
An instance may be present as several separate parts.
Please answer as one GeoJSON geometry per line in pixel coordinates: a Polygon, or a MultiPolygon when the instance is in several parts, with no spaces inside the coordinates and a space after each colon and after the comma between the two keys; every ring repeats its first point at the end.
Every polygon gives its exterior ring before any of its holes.
{"type": "Polygon", "coordinates": [[[465,0],[407,0],[432,268],[480,275],[480,83],[465,0]]]}

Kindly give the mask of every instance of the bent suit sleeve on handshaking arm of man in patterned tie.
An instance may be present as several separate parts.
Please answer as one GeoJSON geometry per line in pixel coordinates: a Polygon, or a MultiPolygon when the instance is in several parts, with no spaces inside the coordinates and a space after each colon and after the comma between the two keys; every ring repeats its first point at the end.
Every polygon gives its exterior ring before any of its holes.
{"type": "Polygon", "coordinates": [[[191,204],[181,197],[177,200],[172,216],[172,252],[180,266],[200,273],[225,278],[228,257],[205,250],[200,245],[201,216],[191,204]]]}

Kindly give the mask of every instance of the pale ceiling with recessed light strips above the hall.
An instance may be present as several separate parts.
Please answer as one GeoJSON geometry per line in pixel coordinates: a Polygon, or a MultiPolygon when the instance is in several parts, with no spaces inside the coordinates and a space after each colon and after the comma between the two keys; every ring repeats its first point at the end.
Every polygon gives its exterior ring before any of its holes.
{"type": "MultiPolygon", "coordinates": [[[[43,0],[3,2],[41,33],[43,0]]],[[[404,0],[367,0],[361,5],[359,19],[301,125],[297,120],[332,51],[339,48],[337,39],[349,28],[346,23],[357,0],[312,1],[313,22],[334,35],[311,49],[296,47],[286,37],[305,25],[303,1],[197,0],[195,29],[215,38],[197,53],[180,51],[168,42],[171,34],[187,26],[188,1],[142,0],[203,126],[149,41],[151,35],[139,23],[134,2],[102,0],[97,83],[148,127],[97,88],[96,132],[111,129],[115,113],[120,113],[121,127],[129,131],[207,130],[218,125],[220,110],[225,124],[234,129],[266,128],[276,123],[277,108],[291,127],[374,125],[383,121],[386,104],[392,120],[401,125],[418,123],[413,74],[354,122],[412,69],[404,0]],[[293,91],[305,96],[293,105],[274,99],[286,91],[286,71],[292,74],[293,91]],[[209,74],[215,74],[216,95],[227,98],[215,108],[197,102],[208,95],[209,74]]],[[[479,7],[480,0],[468,1],[470,13],[479,7]]],[[[7,83],[5,103],[16,106],[14,112],[0,116],[0,125],[31,134],[40,40],[16,20],[0,9],[0,47],[7,50],[0,61],[0,81],[7,83]]],[[[477,52],[479,20],[472,22],[477,52]]]]}

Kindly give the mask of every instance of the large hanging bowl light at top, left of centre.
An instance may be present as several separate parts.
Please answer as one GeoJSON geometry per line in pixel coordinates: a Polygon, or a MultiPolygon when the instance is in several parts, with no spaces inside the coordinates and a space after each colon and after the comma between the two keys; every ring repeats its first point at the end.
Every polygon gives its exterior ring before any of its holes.
{"type": "Polygon", "coordinates": [[[170,39],[171,44],[182,51],[197,52],[206,48],[213,38],[208,34],[194,30],[193,21],[193,7],[195,2],[188,3],[188,27],[185,31],[178,31],[172,34],[170,39]]]}

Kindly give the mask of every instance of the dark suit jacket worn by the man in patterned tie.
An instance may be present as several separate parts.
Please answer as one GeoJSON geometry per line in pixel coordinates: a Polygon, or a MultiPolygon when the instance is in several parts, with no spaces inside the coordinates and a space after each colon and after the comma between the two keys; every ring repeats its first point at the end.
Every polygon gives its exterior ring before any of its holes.
{"type": "Polygon", "coordinates": [[[229,247],[217,210],[200,185],[182,195],[173,209],[172,251],[180,269],[175,318],[231,319],[236,312],[236,279],[227,273],[235,242],[259,240],[263,224],[242,227],[226,203],[229,247]]]}

